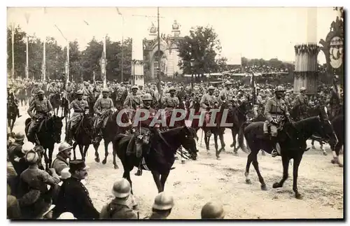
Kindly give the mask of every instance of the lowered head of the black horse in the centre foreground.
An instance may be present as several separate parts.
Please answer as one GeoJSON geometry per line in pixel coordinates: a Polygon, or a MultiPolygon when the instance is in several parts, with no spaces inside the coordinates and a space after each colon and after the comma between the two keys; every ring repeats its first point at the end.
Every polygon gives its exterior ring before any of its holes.
{"type": "Polygon", "coordinates": [[[190,153],[190,158],[192,160],[197,160],[197,145],[196,142],[198,141],[197,132],[195,129],[191,127],[184,126],[181,129],[181,137],[180,137],[180,143],[188,150],[188,153],[190,153]]]}

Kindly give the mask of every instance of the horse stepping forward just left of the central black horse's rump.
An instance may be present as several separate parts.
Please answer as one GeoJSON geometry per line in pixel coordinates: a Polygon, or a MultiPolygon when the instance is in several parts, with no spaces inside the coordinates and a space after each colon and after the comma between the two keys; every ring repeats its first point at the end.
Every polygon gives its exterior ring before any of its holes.
{"type": "MultiPolygon", "coordinates": [[[[102,139],[104,139],[104,160],[102,160],[102,164],[106,164],[107,157],[109,155],[108,146],[109,143],[113,141],[113,139],[116,137],[117,134],[125,134],[127,132],[130,132],[132,125],[127,125],[125,127],[121,127],[118,125],[118,121],[123,122],[124,124],[127,124],[129,122],[129,116],[126,112],[122,111],[115,111],[109,116],[109,119],[106,122],[106,127],[102,128],[102,139]],[[118,117],[117,117],[118,116],[118,117]],[[119,119],[120,117],[120,119],[119,119]]],[[[99,143],[102,141],[101,138],[98,139],[96,142],[97,144],[94,144],[94,161],[99,162],[99,143]]],[[[114,168],[118,169],[118,165],[114,164],[114,168]]]]}

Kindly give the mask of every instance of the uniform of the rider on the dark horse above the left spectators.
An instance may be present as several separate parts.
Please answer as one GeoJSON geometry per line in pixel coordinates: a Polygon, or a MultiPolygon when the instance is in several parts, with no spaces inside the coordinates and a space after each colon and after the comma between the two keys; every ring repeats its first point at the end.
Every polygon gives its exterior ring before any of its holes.
{"type": "Polygon", "coordinates": [[[50,111],[53,111],[52,105],[48,99],[43,99],[40,101],[39,99],[35,99],[31,102],[29,108],[28,108],[28,114],[31,117],[31,124],[28,129],[28,136],[31,134],[31,132],[34,132],[36,127],[40,124],[41,119],[45,116],[48,116],[48,113],[50,111]],[[34,114],[31,112],[35,110],[36,115],[34,118],[34,114]]]}

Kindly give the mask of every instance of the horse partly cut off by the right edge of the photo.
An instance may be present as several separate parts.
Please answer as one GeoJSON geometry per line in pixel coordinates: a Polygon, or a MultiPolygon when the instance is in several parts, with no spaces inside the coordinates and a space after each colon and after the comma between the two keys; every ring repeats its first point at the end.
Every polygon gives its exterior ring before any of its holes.
{"type": "Polygon", "coordinates": [[[343,167],[343,164],[339,162],[339,151],[344,146],[344,115],[337,115],[331,121],[332,127],[337,136],[337,143],[332,148],[333,159],[330,161],[332,164],[338,164],[339,167],[343,167]]]}

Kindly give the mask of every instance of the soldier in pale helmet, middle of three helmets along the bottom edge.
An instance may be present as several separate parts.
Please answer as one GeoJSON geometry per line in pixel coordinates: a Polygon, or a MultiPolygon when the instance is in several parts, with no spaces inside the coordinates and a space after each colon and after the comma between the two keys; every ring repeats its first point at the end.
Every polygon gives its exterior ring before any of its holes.
{"type": "Polygon", "coordinates": [[[160,192],[154,199],[152,214],[149,219],[167,219],[172,213],[174,198],[165,192],[160,192]]]}

